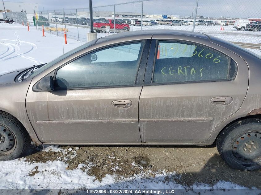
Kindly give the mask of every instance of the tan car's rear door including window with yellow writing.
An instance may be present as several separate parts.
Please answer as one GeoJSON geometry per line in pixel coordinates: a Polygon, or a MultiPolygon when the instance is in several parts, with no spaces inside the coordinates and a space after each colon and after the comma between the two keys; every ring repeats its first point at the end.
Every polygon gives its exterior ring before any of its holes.
{"type": "Polygon", "coordinates": [[[242,105],[248,88],[247,64],[206,37],[153,37],[156,49],[149,54],[139,103],[142,142],[208,140],[242,105]]]}

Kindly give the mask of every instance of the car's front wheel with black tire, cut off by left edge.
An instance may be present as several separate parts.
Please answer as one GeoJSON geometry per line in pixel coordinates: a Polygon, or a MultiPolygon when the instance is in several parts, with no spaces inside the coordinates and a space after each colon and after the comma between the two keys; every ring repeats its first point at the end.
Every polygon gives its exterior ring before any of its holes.
{"type": "Polygon", "coordinates": [[[31,142],[30,136],[23,125],[14,116],[2,111],[0,112],[0,134],[0,139],[2,137],[2,143],[0,143],[0,161],[18,158],[31,142]],[[1,144],[3,145],[1,146],[1,144]],[[7,144],[8,146],[6,146],[7,144]]]}

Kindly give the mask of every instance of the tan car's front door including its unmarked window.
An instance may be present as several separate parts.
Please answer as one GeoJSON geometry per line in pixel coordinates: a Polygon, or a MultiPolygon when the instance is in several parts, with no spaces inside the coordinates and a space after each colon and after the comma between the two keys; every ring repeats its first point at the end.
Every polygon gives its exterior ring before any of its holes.
{"type": "Polygon", "coordinates": [[[54,91],[31,86],[26,108],[40,141],[140,143],[138,102],[149,44],[92,51],[55,70],[54,91]]]}

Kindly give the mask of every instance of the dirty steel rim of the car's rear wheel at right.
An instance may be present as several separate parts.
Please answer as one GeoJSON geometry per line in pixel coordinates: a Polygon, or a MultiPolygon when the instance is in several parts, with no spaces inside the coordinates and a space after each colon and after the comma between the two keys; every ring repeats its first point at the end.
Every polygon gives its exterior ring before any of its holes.
{"type": "Polygon", "coordinates": [[[261,162],[260,130],[245,132],[234,138],[230,146],[230,155],[241,165],[259,164],[261,162]]]}

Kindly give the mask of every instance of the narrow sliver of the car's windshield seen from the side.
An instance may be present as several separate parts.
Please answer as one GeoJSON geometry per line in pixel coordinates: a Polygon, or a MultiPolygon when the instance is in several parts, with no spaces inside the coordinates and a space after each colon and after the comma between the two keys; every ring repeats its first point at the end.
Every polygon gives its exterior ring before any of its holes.
{"type": "Polygon", "coordinates": [[[42,67],[36,69],[35,71],[32,72],[31,75],[28,75],[27,78],[34,77],[34,76],[40,74],[41,72],[45,71],[47,68],[53,66],[54,64],[60,62],[61,60],[67,58],[68,56],[70,56],[70,55],[72,55],[72,54],[74,54],[74,53],[76,53],[76,52],[78,52],[78,51],[81,51],[81,50],[83,50],[83,49],[85,49],[85,48],[87,48],[87,47],[89,47],[89,46],[94,45],[94,44],[96,43],[96,41],[97,41],[97,39],[92,40],[92,41],[90,41],[90,42],[88,42],[88,43],[85,43],[85,44],[79,46],[79,47],[76,47],[75,49],[73,49],[73,50],[71,50],[71,51],[68,51],[67,53],[65,53],[65,54],[59,56],[58,58],[52,60],[51,62],[45,64],[44,66],[42,66],[42,67]]]}

